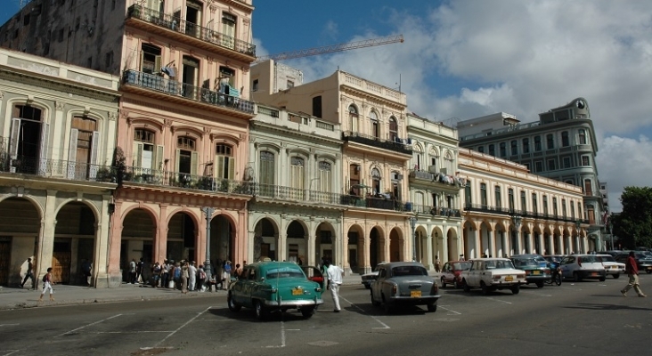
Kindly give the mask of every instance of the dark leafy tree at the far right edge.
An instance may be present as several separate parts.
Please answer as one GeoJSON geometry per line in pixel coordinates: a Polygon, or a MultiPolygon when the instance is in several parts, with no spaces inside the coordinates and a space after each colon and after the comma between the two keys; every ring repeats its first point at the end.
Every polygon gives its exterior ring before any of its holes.
{"type": "Polygon", "coordinates": [[[623,212],[612,223],[623,248],[652,247],[652,188],[625,187],[620,200],[623,212]]]}

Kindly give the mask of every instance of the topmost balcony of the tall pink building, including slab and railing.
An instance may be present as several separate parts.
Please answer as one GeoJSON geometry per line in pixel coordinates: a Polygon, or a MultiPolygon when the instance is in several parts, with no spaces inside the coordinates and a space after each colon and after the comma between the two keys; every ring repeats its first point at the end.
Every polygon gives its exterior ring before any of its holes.
{"type": "Polygon", "coordinates": [[[126,24],[145,31],[167,36],[212,53],[246,62],[256,60],[256,45],[229,36],[211,28],[182,20],[174,15],[134,4],[126,12],[126,24]]]}

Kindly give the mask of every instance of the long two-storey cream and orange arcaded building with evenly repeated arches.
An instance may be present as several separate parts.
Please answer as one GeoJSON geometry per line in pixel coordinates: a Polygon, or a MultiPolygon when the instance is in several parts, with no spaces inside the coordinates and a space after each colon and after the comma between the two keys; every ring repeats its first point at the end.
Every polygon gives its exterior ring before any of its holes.
{"type": "Polygon", "coordinates": [[[465,258],[568,255],[591,249],[582,188],[474,150],[460,148],[459,163],[465,182],[465,258]]]}

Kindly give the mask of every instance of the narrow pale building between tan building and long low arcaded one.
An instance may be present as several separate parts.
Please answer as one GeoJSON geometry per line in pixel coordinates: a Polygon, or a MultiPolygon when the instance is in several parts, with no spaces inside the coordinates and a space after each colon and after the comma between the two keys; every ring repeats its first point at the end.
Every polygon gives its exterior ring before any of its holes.
{"type": "Polygon", "coordinates": [[[462,251],[457,130],[413,113],[407,114],[412,141],[410,201],[416,260],[430,271],[454,261],[462,251]]]}

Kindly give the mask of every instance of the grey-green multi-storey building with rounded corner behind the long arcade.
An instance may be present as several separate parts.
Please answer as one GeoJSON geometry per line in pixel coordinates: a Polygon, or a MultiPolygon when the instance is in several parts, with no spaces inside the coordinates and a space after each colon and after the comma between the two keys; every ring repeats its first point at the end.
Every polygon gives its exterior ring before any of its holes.
{"type": "Polygon", "coordinates": [[[458,123],[460,146],[505,158],[538,175],[582,187],[581,220],[587,221],[588,249],[604,249],[604,201],[599,190],[595,137],[588,101],[577,98],[520,124],[504,113],[458,123]]]}

